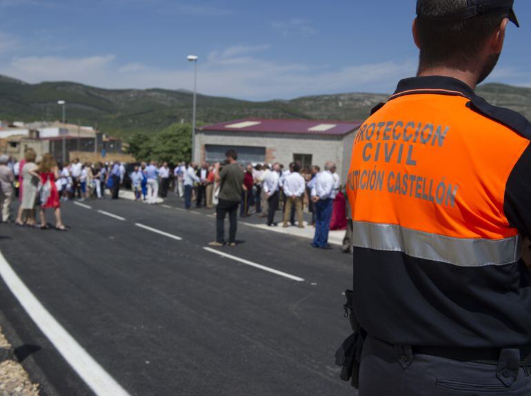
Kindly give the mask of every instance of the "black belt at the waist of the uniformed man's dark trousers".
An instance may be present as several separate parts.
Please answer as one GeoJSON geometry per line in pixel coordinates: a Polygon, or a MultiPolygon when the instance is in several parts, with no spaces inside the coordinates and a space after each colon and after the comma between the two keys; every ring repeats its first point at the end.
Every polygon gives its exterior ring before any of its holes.
{"type": "MultiPolygon", "coordinates": [[[[520,350],[520,366],[531,367],[531,346],[517,348],[520,350]]],[[[417,355],[432,355],[460,362],[475,362],[496,366],[501,348],[448,348],[444,346],[412,346],[417,355]]]]}

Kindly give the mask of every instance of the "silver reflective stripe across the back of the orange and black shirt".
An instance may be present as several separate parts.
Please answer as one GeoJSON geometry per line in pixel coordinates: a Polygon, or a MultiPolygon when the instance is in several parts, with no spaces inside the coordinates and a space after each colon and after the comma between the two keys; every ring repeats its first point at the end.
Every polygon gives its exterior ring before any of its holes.
{"type": "Polygon", "coordinates": [[[394,224],[354,221],[354,246],[402,252],[408,256],[461,267],[503,266],[521,257],[521,238],[461,239],[394,224]]]}

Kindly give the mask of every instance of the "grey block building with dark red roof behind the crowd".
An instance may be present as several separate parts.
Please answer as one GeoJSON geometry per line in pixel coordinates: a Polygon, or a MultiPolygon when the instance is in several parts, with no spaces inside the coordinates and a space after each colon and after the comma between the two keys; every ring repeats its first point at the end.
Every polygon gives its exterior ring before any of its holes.
{"type": "Polygon", "coordinates": [[[354,134],[362,121],[297,119],[240,119],[197,128],[194,161],[214,163],[230,148],[243,164],[301,161],[303,167],[337,164],[342,179],[348,174],[354,134]]]}

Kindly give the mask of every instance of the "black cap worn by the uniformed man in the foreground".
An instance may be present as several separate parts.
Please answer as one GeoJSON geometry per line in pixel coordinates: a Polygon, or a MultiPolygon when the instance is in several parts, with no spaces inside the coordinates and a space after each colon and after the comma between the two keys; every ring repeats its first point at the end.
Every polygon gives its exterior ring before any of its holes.
{"type": "Polygon", "coordinates": [[[519,28],[520,23],[518,23],[517,14],[514,13],[512,8],[513,4],[514,0],[467,0],[467,6],[462,10],[441,17],[434,17],[423,14],[421,12],[421,1],[417,0],[417,15],[432,21],[464,21],[479,15],[507,11],[509,20],[519,28]]]}

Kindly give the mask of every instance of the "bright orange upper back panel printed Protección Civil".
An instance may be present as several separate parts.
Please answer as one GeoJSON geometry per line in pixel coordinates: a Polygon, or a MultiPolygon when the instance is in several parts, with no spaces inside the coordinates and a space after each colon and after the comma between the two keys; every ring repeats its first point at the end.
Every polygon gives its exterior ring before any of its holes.
{"type": "Polygon", "coordinates": [[[530,142],[468,101],[405,95],[363,123],[347,183],[355,221],[448,237],[517,235],[503,213],[505,184],[530,142]]]}

